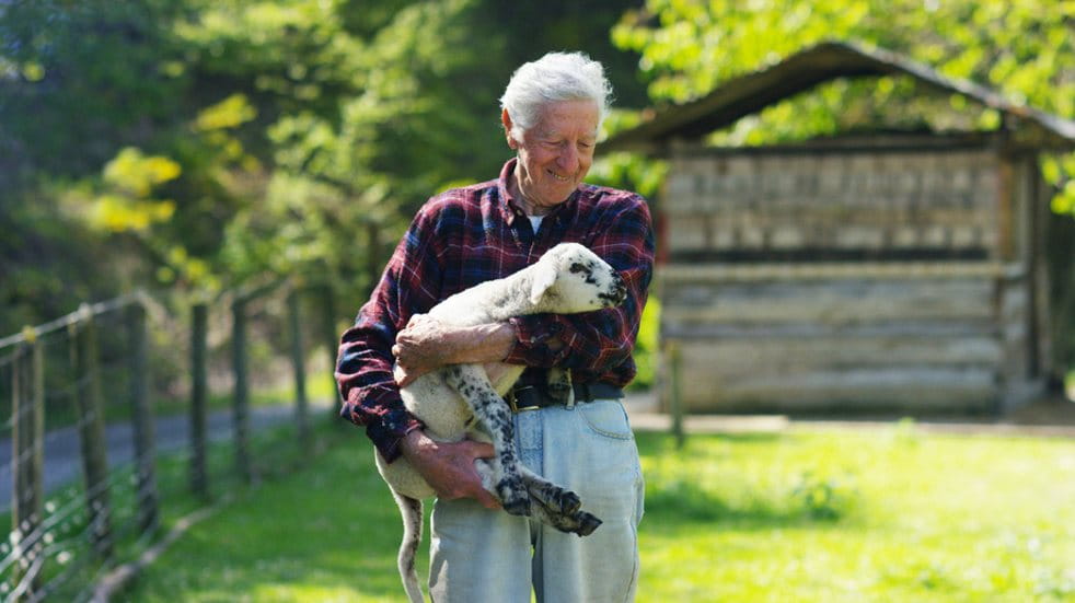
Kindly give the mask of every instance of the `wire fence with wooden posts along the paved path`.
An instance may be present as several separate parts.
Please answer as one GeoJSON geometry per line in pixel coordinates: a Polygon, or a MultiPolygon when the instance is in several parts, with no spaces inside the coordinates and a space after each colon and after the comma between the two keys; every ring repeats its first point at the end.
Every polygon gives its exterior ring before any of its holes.
{"type": "Polygon", "coordinates": [[[205,303],[139,292],[0,338],[0,600],[88,601],[185,515],[315,457],[334,315],[330,288],[277,280],[205,303]]]}

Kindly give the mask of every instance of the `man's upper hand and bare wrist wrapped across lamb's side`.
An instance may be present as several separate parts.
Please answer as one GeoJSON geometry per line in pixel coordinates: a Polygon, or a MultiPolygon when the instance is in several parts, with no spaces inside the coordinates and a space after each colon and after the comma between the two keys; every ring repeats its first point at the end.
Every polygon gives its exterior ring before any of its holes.
{"type": "Polygon", "coordinates": [[[406,387],[446,364],[499,362],[515,341],[516,329],[510,323],[454,326],[428,314],[415,314],[392,346],[395,381],[406,387]]]}

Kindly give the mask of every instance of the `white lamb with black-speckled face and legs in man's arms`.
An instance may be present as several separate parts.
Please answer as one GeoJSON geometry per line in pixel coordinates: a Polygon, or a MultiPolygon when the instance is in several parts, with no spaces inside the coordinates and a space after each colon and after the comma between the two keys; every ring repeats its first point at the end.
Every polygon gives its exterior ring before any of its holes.
{"type": "MultiPolygon", "coordinates": [[[[429,315],[454,325],[472,326],[507,321],[512,316],[552,312],[570,314],[611,308],[626,294],[623,279],[593,252],[578,243],[560,243],[535,264],[497,280],[461,291],[440,302],[429,315]]],[[[601,520],[579,510],[578,495],[530,472],[519,463],[513,445],[511,409],[502,396],[524,367],[508,364],[490,383],[481,364],[454,364],[425,374],[402,390],[407,409],[425,424],[430,438],[455,442],[464,438],[492,442],[496,454],[475,463],[487,490],[504,509],[532,515],[562,532],[588,535],[601,520]],[[475,421],[474,419],[477,419],[475,421]]],[[[570,395],[565,371],[551,371],[551,381],[570,395]]],[[[404,589],[413,603],[423,601],[415,571],[415,554],[421,538],[421,499],[432,488],[406,459],[386,463],[377,454],[377,467],[392,489],[403,515],[404,535],[398,567],[404,589]]]]}

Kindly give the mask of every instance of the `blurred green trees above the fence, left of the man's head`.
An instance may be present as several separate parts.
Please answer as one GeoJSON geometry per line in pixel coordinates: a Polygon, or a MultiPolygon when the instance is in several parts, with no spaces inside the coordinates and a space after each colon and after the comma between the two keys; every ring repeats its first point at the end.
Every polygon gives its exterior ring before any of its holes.
{"type": "MultiPolygon", "coordinates": [[[[269,271],[340,283],[350,313],[419,204],[508,158],[497,97],[520,62],[587,50],[645,104],[606,34],[628,3],[2,2],[0,186],[58,209],[49,228],[80,231],[59,239],[101,266],[61,288],[67,310],[74,290],[269,271]]],[[[21,241],[5,263],[25,260],[21,241]]],[[[19,268],[19,299],[50,294],[37,269],[19,268]]]]}

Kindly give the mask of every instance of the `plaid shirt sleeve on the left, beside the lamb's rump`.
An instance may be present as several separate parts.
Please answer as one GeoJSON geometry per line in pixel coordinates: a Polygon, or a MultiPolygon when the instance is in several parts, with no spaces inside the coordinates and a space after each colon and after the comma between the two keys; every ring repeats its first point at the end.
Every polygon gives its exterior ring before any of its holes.
{"type": "Polygon", "coordinates": [[[403,405],[392,376],[392,345],[411,316],[436,304],[441,267],[434,247],[435,219],[420,210],[400,241],[370,301],[339,346],[336,382],[340,416],[365,426],[366,433],[392,462],[400,456],[400,440],[421,427],[403,405]]]}

